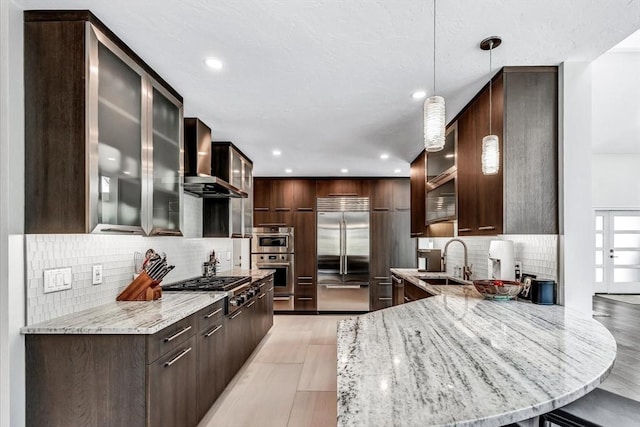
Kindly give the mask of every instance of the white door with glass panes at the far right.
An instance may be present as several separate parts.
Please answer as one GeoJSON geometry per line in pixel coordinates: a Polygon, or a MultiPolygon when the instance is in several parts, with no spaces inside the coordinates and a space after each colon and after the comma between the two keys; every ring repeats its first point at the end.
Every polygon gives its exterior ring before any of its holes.
{"type": "Polygon", "coordinates": [[[595,292],[640,294],[640,211],[596,211],[595,292]]]}

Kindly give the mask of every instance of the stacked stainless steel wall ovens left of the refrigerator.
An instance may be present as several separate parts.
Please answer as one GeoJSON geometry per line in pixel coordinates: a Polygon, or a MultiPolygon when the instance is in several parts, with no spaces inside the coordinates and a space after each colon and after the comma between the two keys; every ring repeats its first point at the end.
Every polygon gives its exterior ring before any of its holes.
{"type": "Polygon", "coordinates": [[[294,252],[292,227],[256,227],[251,241],[251,267],[274,270],[273,309],[294,308],[294,252]]]}

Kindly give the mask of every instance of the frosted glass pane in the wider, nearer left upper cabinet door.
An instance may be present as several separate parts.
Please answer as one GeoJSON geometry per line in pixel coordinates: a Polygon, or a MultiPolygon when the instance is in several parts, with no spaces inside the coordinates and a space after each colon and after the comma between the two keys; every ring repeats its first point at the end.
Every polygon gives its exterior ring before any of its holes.
{"type": "Polygon", "coordinates": [[[141,227],[142,76],[98,43],[99,224],[141,227]]]}

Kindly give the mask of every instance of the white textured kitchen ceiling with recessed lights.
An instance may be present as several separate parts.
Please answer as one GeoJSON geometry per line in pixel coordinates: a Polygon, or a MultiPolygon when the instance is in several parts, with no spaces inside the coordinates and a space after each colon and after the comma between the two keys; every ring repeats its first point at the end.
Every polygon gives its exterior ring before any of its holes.
{"type": "MultiPolygon", "coordinates": [[[[431,1],[17,3],[90,9],[182,94],[185,117],[254,161],[256,176],[408,176],[422,149],[423,101],[410,95],[432,90],[431,1]],[[221,71],[205,66],[209,56],[221,71]]],[[[487,36],[503,39],[496,70],[592,60],[638,28],[640,0],[440,1],[436,89],[447,120],[488,80],[478,47],[487,36]]]]}

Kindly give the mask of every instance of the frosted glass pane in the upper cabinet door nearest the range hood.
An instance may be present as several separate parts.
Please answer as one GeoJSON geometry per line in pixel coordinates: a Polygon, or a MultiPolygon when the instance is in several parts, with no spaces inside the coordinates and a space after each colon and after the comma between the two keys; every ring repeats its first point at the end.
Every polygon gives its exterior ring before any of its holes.
{"type": "Polygon", "coordinates": [[[182,114],[181,106],[176,102],[153,88],[151,234],[180,234],[182,114]]]}

